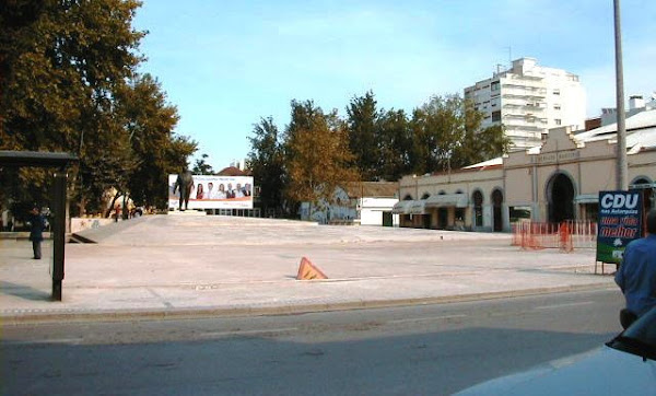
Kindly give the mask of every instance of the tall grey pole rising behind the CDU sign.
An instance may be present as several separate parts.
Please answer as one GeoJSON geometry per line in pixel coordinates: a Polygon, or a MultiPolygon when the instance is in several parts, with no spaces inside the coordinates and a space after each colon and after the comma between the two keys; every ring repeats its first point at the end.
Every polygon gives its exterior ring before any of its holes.
{"type": "Polygon", "coordinates": [[[622,33],[620,27],[620,0],[613,0],[616,33],[616,93],[618,107],[617,189],[629,189],[629,165],[626,163],[626,125],[624,113],[624,71],[622,67],[622,33]]]}

